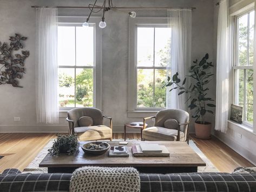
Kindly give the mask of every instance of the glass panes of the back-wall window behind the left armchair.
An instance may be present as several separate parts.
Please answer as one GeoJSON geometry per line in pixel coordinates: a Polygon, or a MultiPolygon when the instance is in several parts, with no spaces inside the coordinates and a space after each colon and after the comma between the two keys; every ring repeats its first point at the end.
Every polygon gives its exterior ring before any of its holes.
{"type": "Polygon", "coordinates": [[[58,94],[61,108],[95,106],[95,26],[58,26],[58,94]]]}

